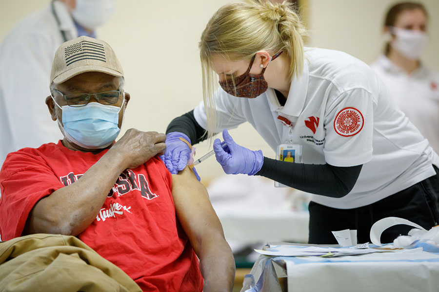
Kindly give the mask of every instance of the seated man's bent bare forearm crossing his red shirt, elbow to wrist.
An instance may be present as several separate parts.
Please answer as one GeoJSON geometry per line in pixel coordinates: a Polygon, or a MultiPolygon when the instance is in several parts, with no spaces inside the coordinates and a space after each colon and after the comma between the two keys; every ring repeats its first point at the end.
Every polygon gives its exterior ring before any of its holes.
{"type": "Polygon", "coordinates": [[[99,214],[125,165],[120,153],[108,150],[78,181],[37,202],[29,214],[23,235],[80,234],[99,214]]]}

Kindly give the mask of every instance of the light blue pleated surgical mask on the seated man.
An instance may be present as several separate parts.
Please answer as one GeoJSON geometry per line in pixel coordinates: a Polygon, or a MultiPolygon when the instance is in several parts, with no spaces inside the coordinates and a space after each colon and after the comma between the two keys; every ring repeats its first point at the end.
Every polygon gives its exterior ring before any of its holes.
{"type": "Polygon", "coordinates": [[[83,107],[60,107],[55,102],[62,110],[64,126],[61,126],[59,121],[58,124],[70,142],[86,149],[105,148],[119,135],[119,112],[123,103],[121,107],[101,105],[97,102],[88,103],[83,107]]]}

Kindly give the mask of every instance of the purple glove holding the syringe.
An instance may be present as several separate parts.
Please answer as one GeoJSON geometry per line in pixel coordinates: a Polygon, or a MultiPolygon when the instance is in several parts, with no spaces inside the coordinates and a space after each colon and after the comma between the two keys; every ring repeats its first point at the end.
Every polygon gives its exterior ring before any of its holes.
{"type": "Polygon", "coordinates": [[[254,175],[260,170],[262,164],[264,164],[264,156],[261,150],[252,151],[239,146],[233,141],[226,129],[222,131],[222,137],[227,146],[224,146],[223,149],[220,145],[220,139],[215,139],[214,151],[217,161],[221,164],[225,173],[254,175]]]}

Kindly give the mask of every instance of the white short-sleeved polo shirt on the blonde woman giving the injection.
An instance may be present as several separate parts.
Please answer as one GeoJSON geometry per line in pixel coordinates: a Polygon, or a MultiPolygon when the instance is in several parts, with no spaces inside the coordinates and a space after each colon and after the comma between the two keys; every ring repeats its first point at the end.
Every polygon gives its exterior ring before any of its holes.
{"type": "MultiPolygon", "coordinates": [[[[302,75],[291,82],[285,106],[271,88],[254,99],[216,91],[216,131],[247,121],[273,150],[288,138],[302,145],[305,164],[363,164],[345,197],[313,196],[334,208],[368,205],[435,175],[432,164],[439,165],[438,155],[369,66],[339,51],[307,48],[305,55],[302,75]],[[293,123],[292,136],[279,115],[293,123]]],[[[194,115],[207,128],[202,102],[194,115]]]]}

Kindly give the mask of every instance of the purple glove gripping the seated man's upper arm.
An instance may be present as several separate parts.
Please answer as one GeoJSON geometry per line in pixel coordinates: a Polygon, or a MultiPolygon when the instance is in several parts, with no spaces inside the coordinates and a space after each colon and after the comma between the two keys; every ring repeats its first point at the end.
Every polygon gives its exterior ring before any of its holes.
{"type": "Polygon", "coordinates": [[[185,139],[189,144],[191,143],[189,137],[181,132],[170,132],[166,134],[165,154],[160,156],[166,168],[168,168],[172,174],[178,174],[180,170],[186,167],[191,153],[189,145],[181,141],[180,138],[185,139]]]}

